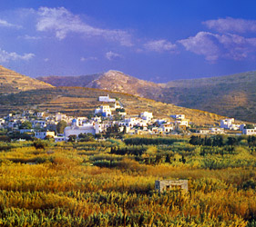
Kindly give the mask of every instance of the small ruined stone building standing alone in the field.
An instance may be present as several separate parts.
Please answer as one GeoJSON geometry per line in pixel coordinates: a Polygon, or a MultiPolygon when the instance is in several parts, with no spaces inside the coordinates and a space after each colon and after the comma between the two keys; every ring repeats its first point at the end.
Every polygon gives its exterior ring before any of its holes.
{"type": "Polygon", "coordinates": [[[155,182],[155,189],[159,192],[167,192],[171,190],[189,191],[188,180],[162,180],[155,182]]]}

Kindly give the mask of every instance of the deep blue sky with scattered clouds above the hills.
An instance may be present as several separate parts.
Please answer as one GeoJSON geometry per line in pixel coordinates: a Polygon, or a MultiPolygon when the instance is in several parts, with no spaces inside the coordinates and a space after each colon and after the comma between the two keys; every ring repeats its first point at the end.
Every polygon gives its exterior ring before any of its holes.
{"type": "Polygon", "coordinates": [[[32,77],[175,79],[256,70],[254,0],[1,0],[0,64],[32,77]]]}

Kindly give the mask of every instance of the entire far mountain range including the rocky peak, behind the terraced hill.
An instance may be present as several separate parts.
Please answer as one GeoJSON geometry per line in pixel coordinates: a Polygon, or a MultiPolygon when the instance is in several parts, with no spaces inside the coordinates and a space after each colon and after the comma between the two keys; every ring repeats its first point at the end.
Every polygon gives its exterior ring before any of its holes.
{"type": "Polygon", "coordinates": [[[154,84],[118,71],[79,77],[69,76],[68,80],[67,77],[57,77],[60,80],[57,83],[56,77],[44,78],[43,81],[56,86],[65,81],[65,85],[135,94],[256,123],[256,72],[177,80],[167,84],[154,84]]]}

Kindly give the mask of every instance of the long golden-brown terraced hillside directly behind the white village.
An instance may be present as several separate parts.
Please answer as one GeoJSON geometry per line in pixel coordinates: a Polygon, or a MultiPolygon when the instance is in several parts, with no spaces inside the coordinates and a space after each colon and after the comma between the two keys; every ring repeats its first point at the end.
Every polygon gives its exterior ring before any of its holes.
{"type": "Polygon", "coordinates": [[[199,125],[216,125],[223,118],[218,114],[191,110],[174,104],[163,104],[131,94],[81,87],[56,87],[31,90],[19,94],[0,95],[0,115],[30,108],[77,116],[94,114],[95,108],[102,104],[98,102],[98,96],[107,94],[117,98],[124,105],[128,114],[140,114],[148,111],[158,118],[169,118],[171,114],[186,114],[192,123],[199,125]]]}

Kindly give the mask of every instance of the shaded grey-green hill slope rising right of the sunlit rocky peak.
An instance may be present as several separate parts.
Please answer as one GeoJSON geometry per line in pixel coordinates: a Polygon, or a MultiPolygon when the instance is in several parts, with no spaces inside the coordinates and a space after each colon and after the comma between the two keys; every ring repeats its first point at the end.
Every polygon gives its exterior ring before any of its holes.
{"type": "Polygon", "coordinates": [[[256,123],[256,72],[162,84],[155,99],[256,123]]]}

